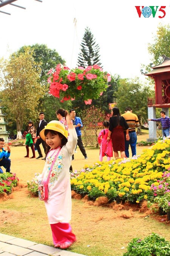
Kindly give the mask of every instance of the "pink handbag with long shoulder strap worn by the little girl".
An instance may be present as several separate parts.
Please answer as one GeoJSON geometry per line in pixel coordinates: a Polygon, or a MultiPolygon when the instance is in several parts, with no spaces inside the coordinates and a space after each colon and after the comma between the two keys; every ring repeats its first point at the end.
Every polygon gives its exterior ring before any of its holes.
{"type": "MultiPolygon", "coordinates": [[[[61,150],[61,148],[60,148],[60,150],[61,150]]],[[[56,162],[56,159],[57,159],[57,156],[59,155],[60,150],[58,151],[58,153],[56,154],[56,156],[53,160],[53,163],[52,163],[51,168],[50,168],[49,173],[48,173],[47,180],[43,181],[43,179],[40,179],[38,181],[38,190],[39,190],[39,199],[40,200],[46,201],[48,199],[49,176],[51,174],[51,170],[53,169],[54,163],[56,162]]]]}

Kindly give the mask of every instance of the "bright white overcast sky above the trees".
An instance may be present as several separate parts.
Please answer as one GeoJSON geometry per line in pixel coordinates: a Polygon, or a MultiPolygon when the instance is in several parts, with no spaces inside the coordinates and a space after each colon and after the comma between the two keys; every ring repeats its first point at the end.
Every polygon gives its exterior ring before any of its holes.
{"type": "MultiPolygon", "coordinates": [[[[6,5],[0,11],[0,57],[8,57],[24,45],[46,44],[55,49],[69,68],[77,66],[80,43],[89,27],[100,47],[104,71],[121,78],[145,76],[141,64],[151,63],[148,43],[153,42],[159,24],[170,24],[170,1],[158,0],[17,0],[17,8],[6,5]],[[159,6],[155,18],[139,18],[135,6],[159,6]],[[165,7],[165,17],[159,11],[165,7]],[[76,18],[76,26],[74,19],[76,18]]],[[[170,56],[169,56],[170,57],[170,56]]]]}

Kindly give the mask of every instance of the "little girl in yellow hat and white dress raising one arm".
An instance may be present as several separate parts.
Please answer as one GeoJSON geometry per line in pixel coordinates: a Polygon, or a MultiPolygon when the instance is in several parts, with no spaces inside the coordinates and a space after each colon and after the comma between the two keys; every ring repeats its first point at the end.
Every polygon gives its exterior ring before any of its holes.
{"type": "Polygon", "coordinates": [[[46,181],[53,160],[59,152],[51,170],[48,183],[48,199],[45,202],[49,224],[51,225],[54,247],[66,249],[76,241],[69,221],[71,220],[71,185],[70,165],[71,155],[77,144],[77,133],[66,116],[68,131],[59,121],[51,121],[40,132],[40,137],[47,144],[46,162],[39,180],[46,181]],[[68,137],[69,132],[69,137],[68,137]],[[68,139],[67,139],[68,138],[68,139]]]}

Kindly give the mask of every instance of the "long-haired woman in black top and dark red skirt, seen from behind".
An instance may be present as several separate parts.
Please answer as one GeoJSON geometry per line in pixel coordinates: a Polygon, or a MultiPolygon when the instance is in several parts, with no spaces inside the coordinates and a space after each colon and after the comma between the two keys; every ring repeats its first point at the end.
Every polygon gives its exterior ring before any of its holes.
{"type": "Polygon", "coordinates": [[[114,157],[119,157],[118,151],[121,152],[121,158],[125,157],[125,137],[124,130],[126,131],[126,140],[129,140],[128,124],[125,118],[121,116],[119,108],[114,107],[111,111],[112,116],[109,119],[109,132],[107,140],[112,140],[114,157]]]}

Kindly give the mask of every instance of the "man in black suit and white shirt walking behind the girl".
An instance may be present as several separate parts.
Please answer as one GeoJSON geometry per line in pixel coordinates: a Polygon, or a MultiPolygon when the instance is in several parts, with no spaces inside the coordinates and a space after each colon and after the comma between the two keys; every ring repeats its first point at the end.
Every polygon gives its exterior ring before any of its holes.
{"type": "MultiPolygon", "coordinates": [[[[46,151],[46,144],[45,144],[45,141],[43,141],[42,138],[40,137],[40,131],[41,131],[42,129],[44,129],[45,126],[47,125],[47,122],[45,121],[44,117],[45,117],[45,116],[44,116],[44,112],[40,112],[40,113],[39,113],[39,119],[40,119],[40,121],[39,121],[39,125],[38,125],[38,127],[37,127],[37,141],[36,141],[36,144],[35,144],[36,149],[37,149],[37,151],[38,151],[38,153],[39,153],[39,156],[38,156],[36,159],[39,159],[39,158],[43,157],[42,152],[41,152],[41,149],[40,149],[40,144],[41,144],[41,143],[42,143],[44,152],[46,151]]],[[[45,160],[45,158],[43,158],[42,160],[45,160]]]]}

